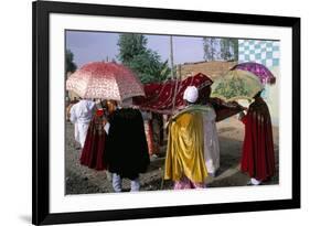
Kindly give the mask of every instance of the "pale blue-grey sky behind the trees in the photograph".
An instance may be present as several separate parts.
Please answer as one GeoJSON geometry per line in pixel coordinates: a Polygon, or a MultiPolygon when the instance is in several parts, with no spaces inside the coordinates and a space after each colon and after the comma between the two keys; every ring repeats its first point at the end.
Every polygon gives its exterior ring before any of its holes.
{"type": "MultiPolygon", "coordinates": [[[[116,58],[118,54],[119,33],[107,32],[66,32],[66,49],[74,54],[78,67],[88,62],[116,58]]],[[[162,61],[169,60],[170,46],[168,35],[146,35],[148,47],[157,51],[162,61]]],[[[203,61],[202,37],[173,36],[174,64],[203,61]]]]}

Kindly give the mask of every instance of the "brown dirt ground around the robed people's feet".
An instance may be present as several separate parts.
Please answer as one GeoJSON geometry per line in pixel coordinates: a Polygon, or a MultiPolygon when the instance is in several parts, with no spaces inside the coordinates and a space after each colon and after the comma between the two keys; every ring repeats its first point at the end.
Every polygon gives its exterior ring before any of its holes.
{"type": "MultiPolygon", "coordinates": [[[[216,126],[220,139],[221,166],[215,177],[207,177],[206,185],[207,187],[245,186],[249,177],[239,171],[244,126],[236,119],[236,117],[221,121],[216,126]]],[[[276,155],[276,174],[269,182],[264,183],[264,185],[278,184],[279,182],[279,131],[278,128],[274,128],[272,130],[276,155]]],[[[95,171],[79,164],[81,150],[76,149],[77,143],[74,141],[74,127],[71,122],[66,122],[65,136],[66,194],[114,192],[111,182],[108,180],[105,171],[95,171]]],[[[165,147],[161,147],[159,158],[151,158],[151,164],[147,173],[140,175],[140,190],[158,191],[172,189],[171,181],[162,181],[164,157],[165,147]]],[[[122,187],[124,191],[129,191],[130,181],[124,180],[122,187]]]]}

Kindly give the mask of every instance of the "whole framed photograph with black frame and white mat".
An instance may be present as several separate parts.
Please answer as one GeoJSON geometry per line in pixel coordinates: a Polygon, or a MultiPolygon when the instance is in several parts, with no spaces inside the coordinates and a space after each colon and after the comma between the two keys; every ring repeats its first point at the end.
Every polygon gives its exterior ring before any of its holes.
{"type": "Polygon", "coordinates": [[[300,207],[300,19],[33,2],[34,225],[300,207]]]}

